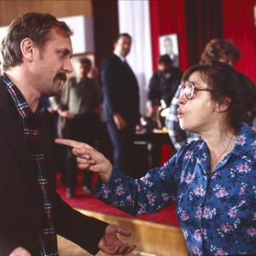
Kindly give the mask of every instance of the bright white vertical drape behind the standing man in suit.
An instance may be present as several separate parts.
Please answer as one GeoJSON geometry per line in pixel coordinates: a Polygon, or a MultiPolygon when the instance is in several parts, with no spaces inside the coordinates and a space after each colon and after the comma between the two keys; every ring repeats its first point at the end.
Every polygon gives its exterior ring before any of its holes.
{"type": "Polygon", "coordinates": [[[148,82],[153,73],[148,0],[119,0],[119,32],[132,37],[127,60],[137,76],[140,87],[141,113],[146,113],[148,82]]]}

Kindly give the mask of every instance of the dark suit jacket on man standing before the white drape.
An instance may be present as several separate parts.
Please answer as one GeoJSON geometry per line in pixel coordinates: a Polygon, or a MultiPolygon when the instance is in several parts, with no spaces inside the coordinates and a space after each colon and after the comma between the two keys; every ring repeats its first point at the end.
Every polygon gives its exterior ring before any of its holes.
{"type": "Polygon", "coordinates": [[[115,54],[108,56],[101,68],[103,121],[112,121],[120,113],[130,125],[139,123],[139,89],[135,74],[115,54]]]}

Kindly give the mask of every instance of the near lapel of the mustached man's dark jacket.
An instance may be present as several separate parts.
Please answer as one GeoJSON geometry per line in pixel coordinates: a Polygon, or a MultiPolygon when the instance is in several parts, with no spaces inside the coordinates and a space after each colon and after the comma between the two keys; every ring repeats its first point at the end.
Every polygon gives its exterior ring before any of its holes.
{"type": "Polygon", "coordinates": [[[14,152],[14,158],[20,166],[20,171],[24,173],[28,186],[32,189],[32,195],[42,198],[37,176],[26,147],[20,118],[2,81],[0,82],[0,132],[9,142],[9,147],[14,152]]]}

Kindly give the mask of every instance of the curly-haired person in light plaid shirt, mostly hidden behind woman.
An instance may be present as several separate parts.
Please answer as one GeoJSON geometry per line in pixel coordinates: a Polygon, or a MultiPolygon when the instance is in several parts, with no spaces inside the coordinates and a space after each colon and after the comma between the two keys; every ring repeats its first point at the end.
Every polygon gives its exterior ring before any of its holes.
{"type": "MultiPolygon", "coordinates": [[[[230,41],[221,39],[212,39],[207,43],[203,53],[201,54],[201,64],[211,64],[214,61],[221,61],[231,66],[236,64],[240,58],[239,50],[236,45],[230,41]]],[[[177,99],[180,95],[178,88],[170,105],[170,111],[166,116],[166,128],[171,138],[174,148],[177,150],[183,145],[190,143],[199,138],[198,134],[190,131],[183,131],[177,119],[177,99]]]]}

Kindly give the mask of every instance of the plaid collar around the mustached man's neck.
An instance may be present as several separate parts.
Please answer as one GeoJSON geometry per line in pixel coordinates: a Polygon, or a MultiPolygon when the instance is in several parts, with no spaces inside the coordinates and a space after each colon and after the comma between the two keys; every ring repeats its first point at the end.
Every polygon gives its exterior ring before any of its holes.
{"type": "Polygon", "coordinates": [[[9,95],[15,102],[15,107],[21,119],[35,120],[44,115],[46,111],[41,102],[39,102],[37,111],[33,113],[18,87],[9,79],[6,73],[3,73],[2,80],[6,90],[9,92],[9,95]]]}

